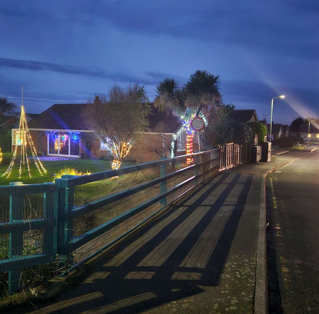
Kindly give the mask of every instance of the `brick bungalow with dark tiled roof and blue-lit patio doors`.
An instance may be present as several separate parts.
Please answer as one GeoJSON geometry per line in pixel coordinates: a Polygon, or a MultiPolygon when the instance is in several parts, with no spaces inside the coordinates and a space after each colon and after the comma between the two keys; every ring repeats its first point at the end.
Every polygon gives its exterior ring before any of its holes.
{"type": "MultiPolygon", "coordinates": [[[[108,150],[98,138],[93,140],[90,149],[81,141],[85,133],[93,133],[83,119],[86,106],[92,106],[92,110],[94,108],[94,104],[55,104],[32,119],[28,125],[38,153],[75,158],[106,157],[108,150]]],[[[152,108],[148,119],[149,129],[143,133],[142,139],[130,150],[126,159],[147,162],[186,153],[186,131],[178,117],[152,108]]],[[[13,128],[12,149],[17,135],[18,128],[13,128]]],[[[198,142],[194,137],[194,151],[197,149],[198,142]]]]}

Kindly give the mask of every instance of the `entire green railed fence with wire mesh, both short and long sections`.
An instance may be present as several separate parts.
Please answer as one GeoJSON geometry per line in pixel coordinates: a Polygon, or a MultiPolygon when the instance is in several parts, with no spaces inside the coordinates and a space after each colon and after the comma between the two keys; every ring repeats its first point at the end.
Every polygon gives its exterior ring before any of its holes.
{"type": "Polygon", "coordinates": [[[219,171],[219,149],[55,183],[0,186],[0,272],[10,291],[24,267],[64,258],[67,274],[143,226],[219,171]],[[2,214],[2,215],[1,215],[2,214]]]}

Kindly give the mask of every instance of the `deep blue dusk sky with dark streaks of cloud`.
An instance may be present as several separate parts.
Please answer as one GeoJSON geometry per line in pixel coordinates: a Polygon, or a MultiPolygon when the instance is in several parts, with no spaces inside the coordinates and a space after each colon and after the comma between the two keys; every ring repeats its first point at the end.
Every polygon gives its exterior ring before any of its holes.
{"type": "Polygon", "coordinates": [[[226,103],[274,122],[319,116],[319,1],[0,0],[0,94],[41,113],[112,85],[197,69],[221,78],[226,103]]]}

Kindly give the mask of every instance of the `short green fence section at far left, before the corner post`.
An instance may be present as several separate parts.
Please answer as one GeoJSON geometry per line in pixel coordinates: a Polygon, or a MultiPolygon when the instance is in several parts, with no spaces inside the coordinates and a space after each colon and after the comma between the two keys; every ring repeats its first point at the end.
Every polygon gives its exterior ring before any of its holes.
{"type": "Polygon", "coordinates": [[[53,183],[0,186],[0,272],[9,271],[11,292],[22,268],[56,258],[57,197],[53,183]]]}

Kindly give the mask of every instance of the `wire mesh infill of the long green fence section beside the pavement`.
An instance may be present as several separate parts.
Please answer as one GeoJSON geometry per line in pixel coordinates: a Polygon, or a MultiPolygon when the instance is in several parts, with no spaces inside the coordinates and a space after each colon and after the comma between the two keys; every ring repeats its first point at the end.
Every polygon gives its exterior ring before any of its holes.
{"type": "MultiPolygon", "coordinates": [[[[87,182],[86,179],[85,183],[83,183],[83,178],[81,177],[71,179],[72,189],[70,189],[71,194],[69,197],[73,199],[73,208],[69,209],[67,215],[70,233],[66,248],[69,269],[73,270],[75,267],[100,254],[102,250],[115,245],[130,231],[141,226],[147,219],[158,213],[164,206],[164,198],[158,198],[156,202],[154,201],[153,204],[148,204],[142,209],[140,209],[140,206],[158,197],[161,191],[172,189],[176,185],[185,182],[185,180],[193,178],[194,174],[204,173],[212,167],[216,168],[216,165],[218,171],[218,164],[219,152],[216,150],[214,151],[214,156],[210,152],[197,154],[192,160],[189,159],[189,156],[180,156],[161,161],[161,165],[158,162],[150,163],[145,168],[136,169],[135,171],[129,170],[128,173],[125,173],[126,170],[123,168],[122,174],[118,176],[115,175],[98,180],[93,178],[92,182],[87,182]],[[216,159],[214,164],[209,162],[212,158],[216,159]],[[196,164],[203,164],[195,169],[195,162],[196,164]],[[165,173],[163,173],[163,168],[165,173]],[[152,182],[152,180],[164,175],[171,175],[165,183],[152,182]],[[147,187],[130,193],[133,188],[145,183],[148,183],[147,187]],[[163,184],[165,184],[165,189],[163,189],[163,184]],[[121,197],[115,201],[108,202],[109,198],[116,195],[121,197]],[[106,205],[93,206],[101,201],[104,203],[103,200],[105,200],[106,205]],[[94,209],[92,209],[92,206],[94,209]],[[83,209],[83,207],[89,209],[79,216],[77,211],[83,209]],[[132,210],[135,210],[136,213],[129,215],[125,220],[120,220],[116,225],[112,225],[112,228],[105,227],[107,224],[116,222],[132,210]],[[99,232],[103,228],[106,228],[106,231],[99,232]],[[97,235],[90,237],[94,232],[97,235]],[[80,246],[72,246],[72,244],[86,237],[89,241],[85,241],[80,246]]],[[[208,173],[207,177],[209,175],[208,173]]],[[[200,178],[201,180],[202,178],[200,178]]],[[[193,186],[194,180],[184,184],[166,197],[166,203],[170,203],[193,186]]]]}

